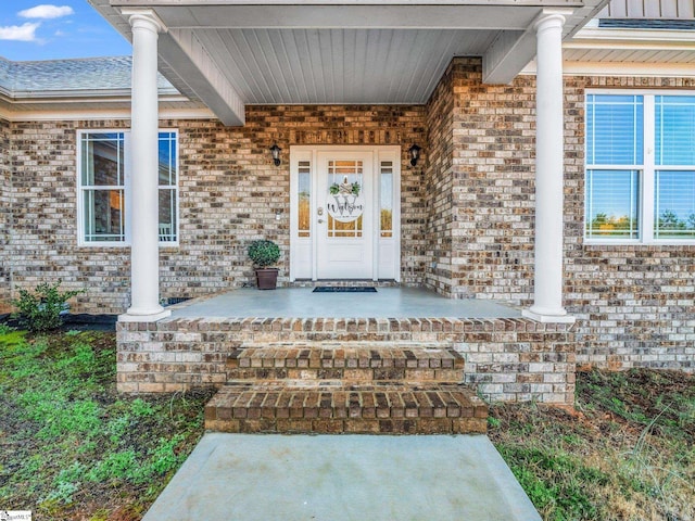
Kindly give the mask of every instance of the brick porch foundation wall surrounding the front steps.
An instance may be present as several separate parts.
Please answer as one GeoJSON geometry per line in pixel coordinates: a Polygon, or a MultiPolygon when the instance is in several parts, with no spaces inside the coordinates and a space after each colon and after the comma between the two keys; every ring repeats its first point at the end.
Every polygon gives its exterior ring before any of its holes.
{"type": "Polygon", "coordinates": [[[118,390],[222,386],[227,360],[271,342],[446,342],[466,360],[464,381],[488,401],[572,404],[574,333],[529,319],[164,319],[119,322],[118,390]]]}

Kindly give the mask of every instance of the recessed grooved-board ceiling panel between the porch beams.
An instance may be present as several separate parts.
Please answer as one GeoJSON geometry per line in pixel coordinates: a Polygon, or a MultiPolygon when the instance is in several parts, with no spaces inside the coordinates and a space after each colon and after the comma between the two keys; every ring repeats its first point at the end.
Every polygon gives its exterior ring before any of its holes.
{"type": "Polygon", "coordinates": [[[495,34],[433,29],[195,31],[250,104],[425,103],[453,56],[481,55],[495,34]]]}

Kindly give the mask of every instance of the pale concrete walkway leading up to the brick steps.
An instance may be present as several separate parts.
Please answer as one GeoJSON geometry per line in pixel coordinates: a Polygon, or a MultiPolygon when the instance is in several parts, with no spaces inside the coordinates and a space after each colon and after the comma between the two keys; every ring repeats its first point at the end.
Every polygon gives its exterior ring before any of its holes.
{"type": "Polygon", "coordinates": [[[144,521],[535,521],[486,436],[207,433],[144,521]]]}

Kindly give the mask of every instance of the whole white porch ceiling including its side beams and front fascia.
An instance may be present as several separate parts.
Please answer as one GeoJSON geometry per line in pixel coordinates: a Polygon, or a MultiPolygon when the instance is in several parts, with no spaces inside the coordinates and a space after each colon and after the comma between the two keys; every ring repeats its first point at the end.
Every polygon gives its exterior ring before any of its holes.
{"type": "Polygon", "coordinates": [[[89,0],[126,38],[150,9],[160,71],[227,125],[245,104],[426,103],[454,56],[482,56],[506,84],[535,54],[534,20],[568,14],[576,33],[607,0],[89,0]]]}

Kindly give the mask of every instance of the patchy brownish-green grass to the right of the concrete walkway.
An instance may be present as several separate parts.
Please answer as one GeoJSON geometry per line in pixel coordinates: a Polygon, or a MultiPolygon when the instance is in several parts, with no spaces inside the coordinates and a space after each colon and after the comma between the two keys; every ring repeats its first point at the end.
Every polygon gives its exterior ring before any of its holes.
{"type": "Polygon", "coordinates": [[[492,407],[490,437],[543,519],[695,519],[695,377],[579,373],[576,409],[492,407]]]}

